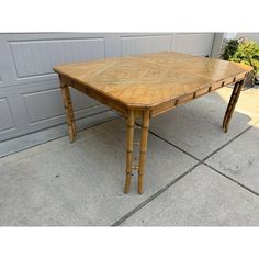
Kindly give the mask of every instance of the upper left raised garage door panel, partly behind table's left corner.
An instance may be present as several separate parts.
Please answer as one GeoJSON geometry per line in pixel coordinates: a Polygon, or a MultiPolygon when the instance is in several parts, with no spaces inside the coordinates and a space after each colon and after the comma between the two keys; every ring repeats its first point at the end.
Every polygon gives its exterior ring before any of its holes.
{"type": "Polygon", "coordinates": [[[54,74],[63,63],[104,57],[103,38],[10,42],[18,78],[54,74]]]}

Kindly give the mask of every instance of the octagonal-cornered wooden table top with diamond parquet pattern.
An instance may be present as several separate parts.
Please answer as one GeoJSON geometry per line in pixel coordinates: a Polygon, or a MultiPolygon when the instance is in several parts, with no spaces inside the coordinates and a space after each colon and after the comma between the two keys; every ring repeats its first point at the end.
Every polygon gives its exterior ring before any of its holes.
{"type": "Polygon", "coordinates": [[[127,106],[153,108],[245,78],[251,67],[167,52],[66,64],[54,70],[127,106]]]}

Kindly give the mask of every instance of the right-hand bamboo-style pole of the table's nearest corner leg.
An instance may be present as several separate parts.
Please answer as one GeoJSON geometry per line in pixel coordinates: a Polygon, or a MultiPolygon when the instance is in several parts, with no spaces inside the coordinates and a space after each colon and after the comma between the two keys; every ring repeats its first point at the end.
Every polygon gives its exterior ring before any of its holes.
{"type": "Polygon", "coordinates": [[[140,139],[140,151],[139,151],[139,167],[138,167],[138,193],[143,193],[143,177],[145,170],[145,161],[147,154],[147,138],[149,127],[149,111],[143,113],[143,125],[142,125],[142,139],[140,139]]]}

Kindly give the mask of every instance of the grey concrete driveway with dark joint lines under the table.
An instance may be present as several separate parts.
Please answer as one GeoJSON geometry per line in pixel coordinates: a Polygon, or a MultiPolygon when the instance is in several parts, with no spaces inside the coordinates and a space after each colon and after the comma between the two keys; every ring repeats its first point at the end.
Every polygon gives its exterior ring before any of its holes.
{"type": "Polygon", "coordinates": [[[0,225],[259,226],[259,90],[241,92],[225,134],[230,91],[151,121],[143,195],[136,176],[123,193],[126,124],[113,112],[79,121],[72,144],[66,125],[1,143],[0,225]]]}

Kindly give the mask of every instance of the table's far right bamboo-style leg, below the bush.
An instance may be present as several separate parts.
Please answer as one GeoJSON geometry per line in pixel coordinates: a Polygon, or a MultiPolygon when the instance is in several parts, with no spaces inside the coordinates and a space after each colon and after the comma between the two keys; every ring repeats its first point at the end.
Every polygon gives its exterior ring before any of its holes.
{"type": "Polygon", "coordinates": [[[235,106],[237,104],[238,98],[240,95],[243,85],[244,85],[244,80],[240,82],[236,82],[233,89],[232,97],[228,102],[227,110],[223,120],[223,127],[224,127],[225,133],[227,133],[228,131],[228,125],[229,125],[233,112],[235,110],[235,106]]]}

